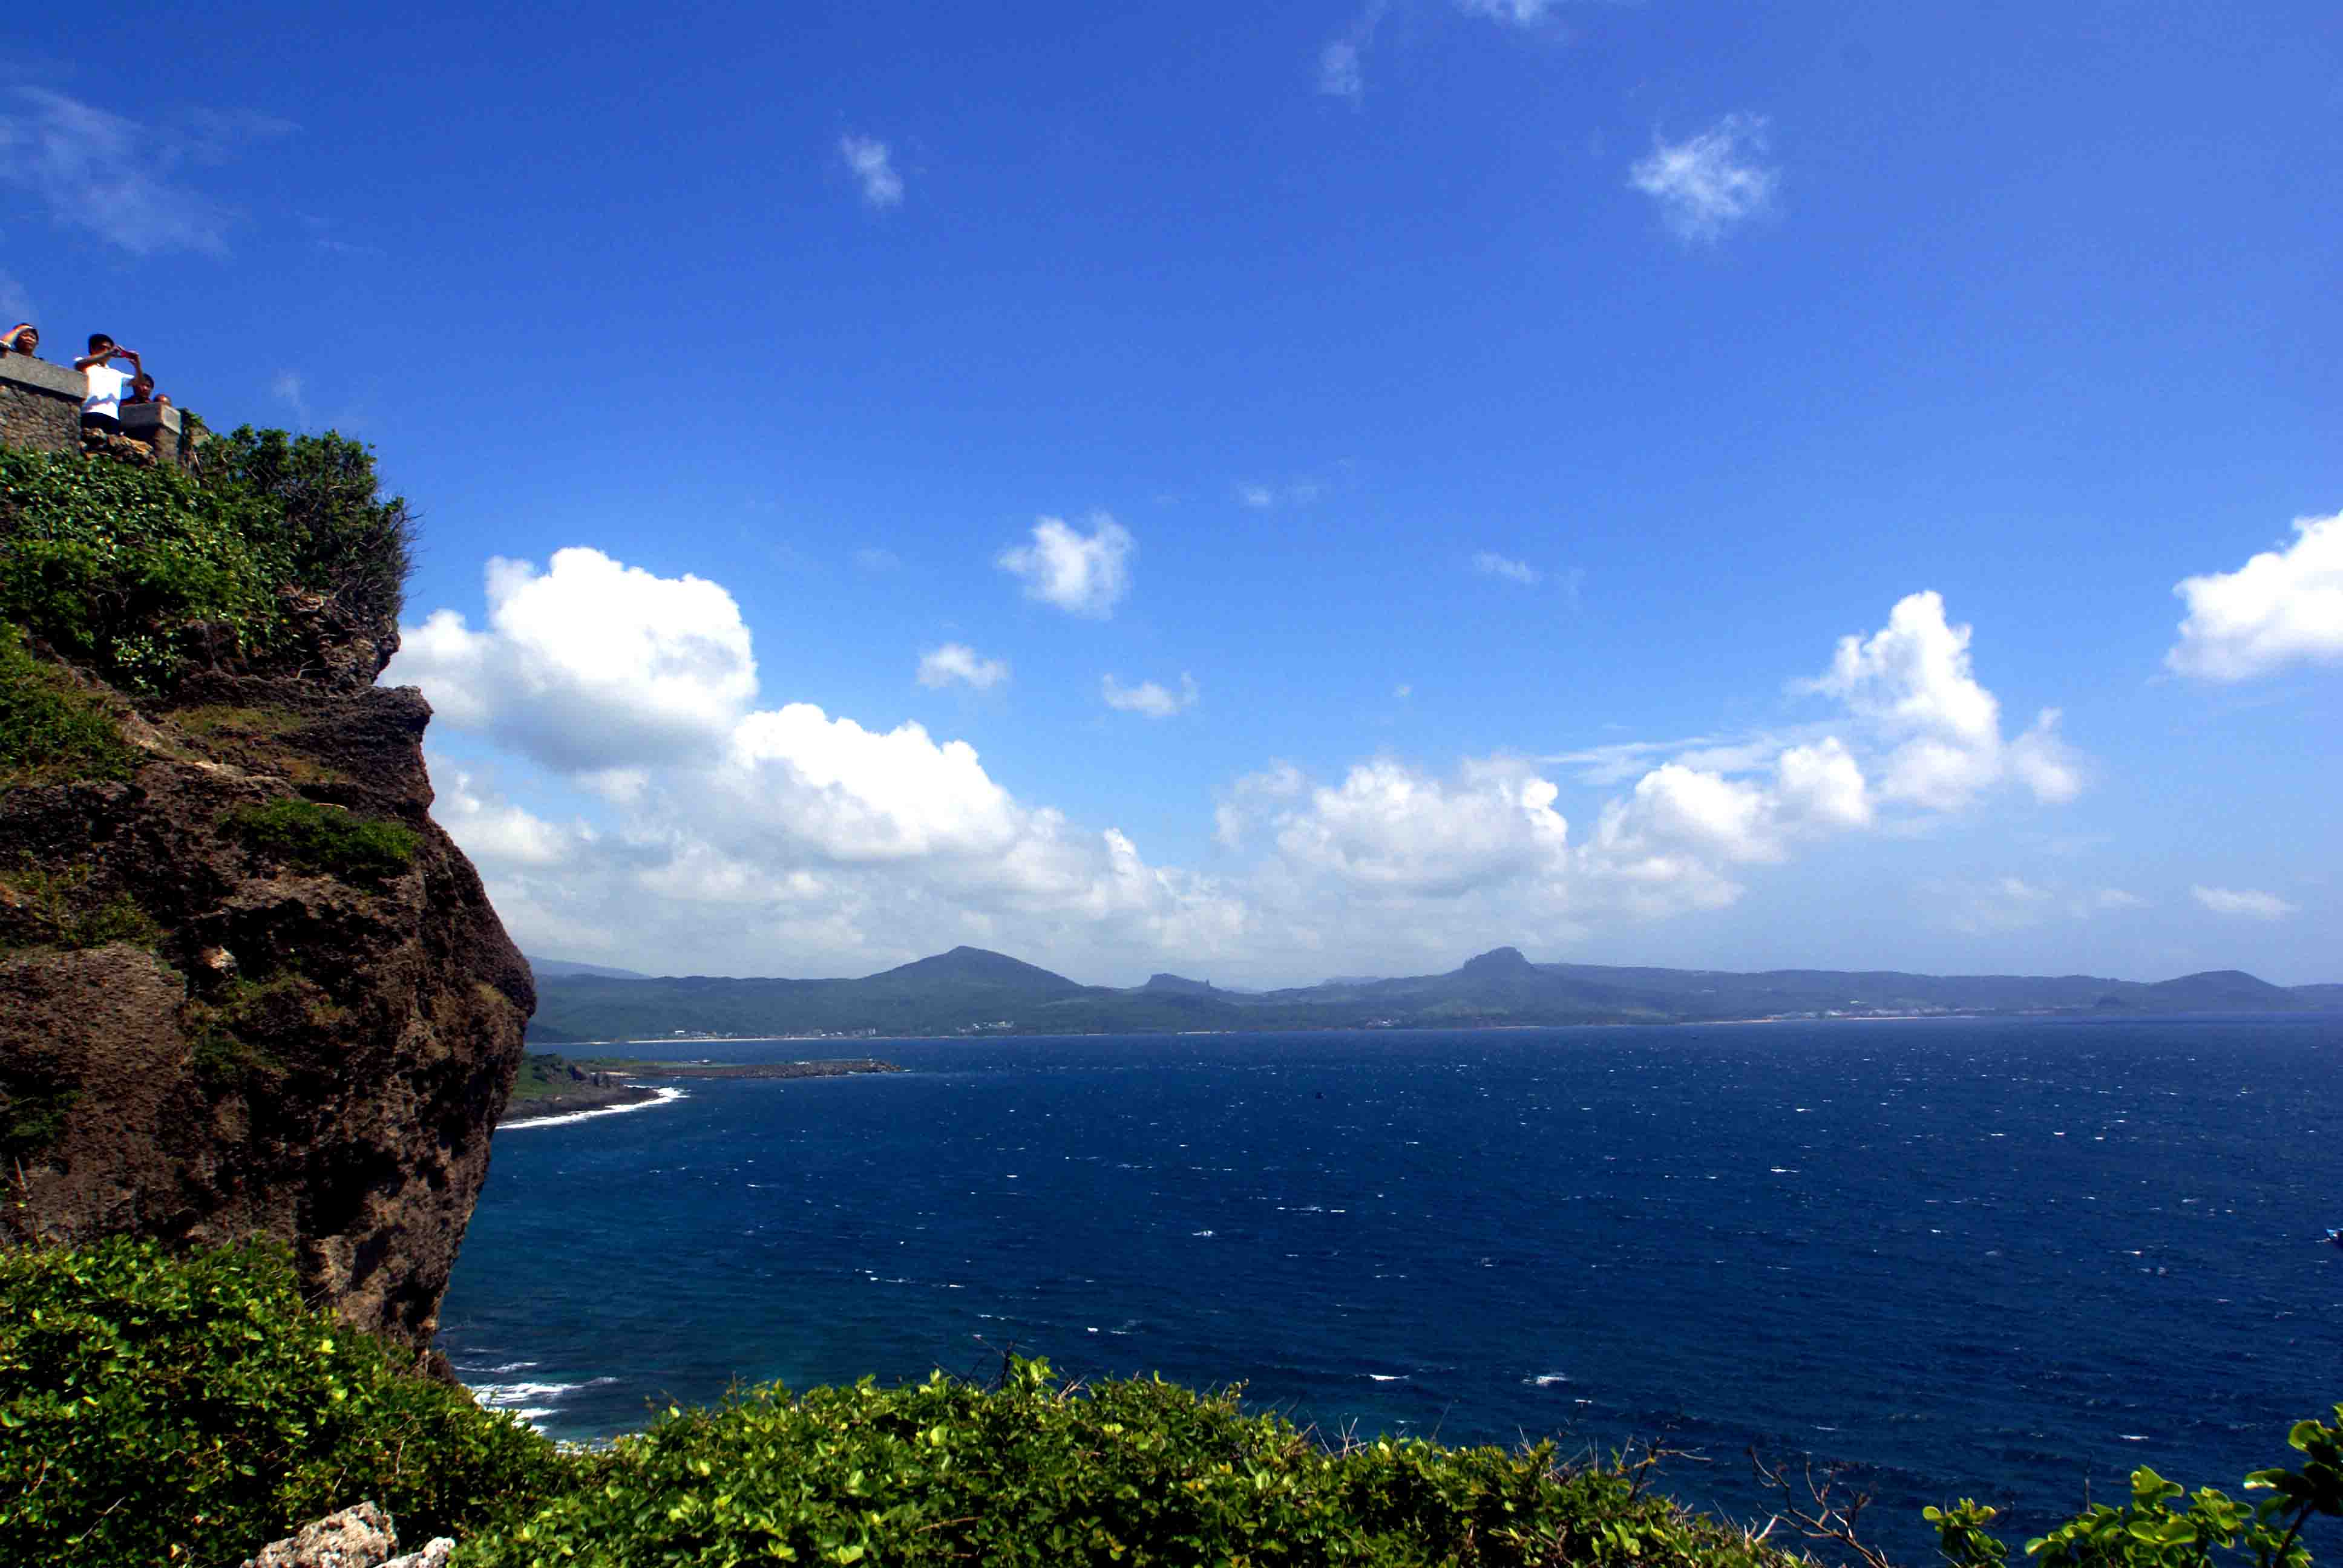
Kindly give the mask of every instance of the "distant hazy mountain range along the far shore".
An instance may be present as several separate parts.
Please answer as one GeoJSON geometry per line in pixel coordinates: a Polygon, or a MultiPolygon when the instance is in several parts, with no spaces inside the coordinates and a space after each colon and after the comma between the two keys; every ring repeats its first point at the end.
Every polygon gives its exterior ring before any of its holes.
{"type": "Polygon", "coordinates": [[[982,947],[954,947],[860,980],[644,977],[530,959],[530,1038],[1157,1034],[1209,1029],[1488,1029],[1502,1024],[1685,1024],[1748,1017],[1975,1013],[2317,1013],[2343,984],[2275,987],[2242,970],[2144,984],[2095,975],[1900,975],[1530,963],[1497,947],[1446,975],[1326,980],[1228,991],[1183,975],[1143,987],[1080,984],[982,947]]]}

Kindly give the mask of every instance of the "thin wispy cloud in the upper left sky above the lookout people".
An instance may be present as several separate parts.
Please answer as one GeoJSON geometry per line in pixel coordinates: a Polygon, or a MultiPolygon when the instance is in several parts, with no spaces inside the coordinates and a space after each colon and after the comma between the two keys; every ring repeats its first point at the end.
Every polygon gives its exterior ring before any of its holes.
{"type": "Polygon", "coordinates": [[[227,253],[237,211],[178,178],[253,141],[291,134],[288,120],[183,110],[148,127],[47,87],[16,87],[0,113],[0,185],[30,192],[56,223],[84,227],[131,255],[227,253]]]}

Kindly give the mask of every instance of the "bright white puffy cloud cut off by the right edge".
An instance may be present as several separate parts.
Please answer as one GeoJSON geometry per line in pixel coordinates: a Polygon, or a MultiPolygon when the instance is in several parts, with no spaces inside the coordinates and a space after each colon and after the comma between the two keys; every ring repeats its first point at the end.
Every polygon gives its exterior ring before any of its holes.
{"type": "Polygon", "coordinates": [[[2291,663],[2343,661],[2343,511],[2296,518],[2294,544],[2235,572],[2181,579],[2188,605],[2165,663],[2200,680],[2252,680],[2291,663]]]}

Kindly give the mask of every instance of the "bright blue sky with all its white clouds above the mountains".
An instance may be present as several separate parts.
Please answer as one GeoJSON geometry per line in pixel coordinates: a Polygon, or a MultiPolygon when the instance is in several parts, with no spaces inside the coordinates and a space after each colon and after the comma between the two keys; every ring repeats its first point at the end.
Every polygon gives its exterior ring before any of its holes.
{"type": "Polygon", "coordinates": [[[0,314],[377,445],[530,952],[2343,980],[2329,5],[0,47],[0,314]]]}

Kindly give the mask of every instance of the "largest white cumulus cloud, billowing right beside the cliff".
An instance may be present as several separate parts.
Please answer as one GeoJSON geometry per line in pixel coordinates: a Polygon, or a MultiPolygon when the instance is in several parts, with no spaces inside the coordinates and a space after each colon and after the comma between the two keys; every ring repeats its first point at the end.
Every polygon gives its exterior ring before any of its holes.
{"type": "Polygon", "coordinates": [[[567,548],[490,563],[487,598],[483,628],[452,609],[403,628],[387,680],[614,816],[560,825],[433,759],[440,820],[539,952],[804,975],[958,942],[1214,959],[1249,930],[1242,893],[1019,802],[965,741],[757,705],[750,633],[712,581],[567,548]]]}

